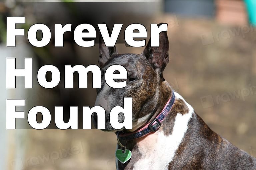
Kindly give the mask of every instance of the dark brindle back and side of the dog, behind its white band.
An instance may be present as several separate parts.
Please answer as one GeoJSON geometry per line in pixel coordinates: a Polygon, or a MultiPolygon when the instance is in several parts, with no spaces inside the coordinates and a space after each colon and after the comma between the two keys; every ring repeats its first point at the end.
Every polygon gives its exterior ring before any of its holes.
{"type": "Polygon", "coordinates": [[[256,170],[256,158],[213,132],[194,113],[169,170],[256,170]]]}

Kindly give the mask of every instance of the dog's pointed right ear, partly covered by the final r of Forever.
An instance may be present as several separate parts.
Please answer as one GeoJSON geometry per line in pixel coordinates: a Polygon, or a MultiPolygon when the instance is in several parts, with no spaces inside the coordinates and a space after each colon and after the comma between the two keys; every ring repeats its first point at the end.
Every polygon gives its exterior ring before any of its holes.
{"type": "MultiPolygon", "coordinates": [[[[161,25],[160,23],[158,27],[161,25]]],[[[164,71],[164,68],[169,62],[169,41],[166,32],[159,34],[159,46],[151,47],[151,38],[142,53],[147,60],[152,64],[152,67],[159,73],[164,71]]]]}

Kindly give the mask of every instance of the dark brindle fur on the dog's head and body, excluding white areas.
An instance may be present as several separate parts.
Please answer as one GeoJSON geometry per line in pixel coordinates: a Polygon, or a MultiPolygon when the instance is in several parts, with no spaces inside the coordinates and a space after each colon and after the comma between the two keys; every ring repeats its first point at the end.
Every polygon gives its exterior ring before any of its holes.
{"type": "MultiPolygon", "coordinates": [[[[128,72],[127,86],[122,89],[111,89],[105,97],[114,94],[111,107],[122,106],[123,97],[132,97],[132,120],[136,121],[150,115],[141,126],[152,121],[161,112],[172,94],[172,88],[162,74],[169,61],[169,42],[166,32],[161,32],[159,38],[159,47],[151,47],[149,41],[142,54],[118,54],[115,47],[106,47],[102,37],[100,38],[99,65],[103,77],[106,68],[114,64],[123,65],[128,72]],[[131,77],[136,78],[136,81],[129,82],[131,77]]],[[[102,88],[105,85],[106,83],[102,81],[102,88]]],[[[101,89],[97,89],[97,92],[100,93],[101,89]]],[[[109,113],[106,112],[108,120],[109,113]]],[[[188,112],[189,108],[184,101],[176,98],[159,131],[163,131],[166,136],[171,135],[176,115],[178,113],[185,115],[188,112]]],[[[95,118],[94,115],[94,123],[97,125],[95,118]]],[[[116,131],[108,122],[104,131],[116,131]]],[[[123,131],[128,132],[126,129],[123,131]]],[[[143,138],[146,137],[148,136],[143,138]]],[[[132,151],[132,157],[125,164],[118,162],[118,169],[132,170],[137,160],[142,158],[138,149],[138,142],[142,139],[127,142],[126,148],[132,151]]],[[[168,170],[256,170],[256,159],[213,132],[196,113],[193,113],[168,170]]]]}

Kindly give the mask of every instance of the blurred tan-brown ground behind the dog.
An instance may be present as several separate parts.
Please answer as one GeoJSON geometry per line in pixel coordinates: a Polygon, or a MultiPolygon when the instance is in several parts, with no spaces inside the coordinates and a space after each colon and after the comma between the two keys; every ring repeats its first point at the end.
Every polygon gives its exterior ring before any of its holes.
{"type": "MultiPolygon", "coordinates": [[[[165,79],[210,128],[256,157],[256,28],[221,26],[209,19],[175,15],[159,16],[153,22],[169,26],[170,62],[165,79]]],[[[120,53],[143,50],[124,44],[117,48],[120,53]]],[[[90,62],[97,64],[98,45],[90,50],[76,46],[76,50],[81,60],[87,60],[83,54],[89,53],[95,56],[90,62]]],[[[95,89],[81,91],[89,94],[84,100],[93,106],[95,89]]],[[[49,94],[40,100],[50,103],[56,98],[49,94]]],[[[115,169],[113,133],[54,129],[27,133],[26,156],[20,159],[26,170],[115,169]]]]}

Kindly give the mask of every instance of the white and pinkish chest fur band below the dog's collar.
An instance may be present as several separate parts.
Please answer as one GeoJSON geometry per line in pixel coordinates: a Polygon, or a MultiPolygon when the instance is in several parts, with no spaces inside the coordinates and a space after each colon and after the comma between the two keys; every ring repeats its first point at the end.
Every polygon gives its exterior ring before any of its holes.
{"type": "MultiPolygon", "coordinates": [[[[176,98],[184,100],[178,93],[176,98]]],[[[188,122],[194,113],[194,109],[184,100],[189,108],[187,114],[178,113],[172,134],[164,135],[163,131],[147,135],[137,143],[141,158],[134,164],[133,170],[167,170],[173,160],[184,134],[188,128],[188,122]]]]}

